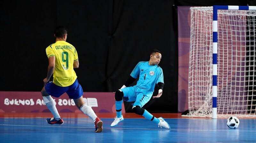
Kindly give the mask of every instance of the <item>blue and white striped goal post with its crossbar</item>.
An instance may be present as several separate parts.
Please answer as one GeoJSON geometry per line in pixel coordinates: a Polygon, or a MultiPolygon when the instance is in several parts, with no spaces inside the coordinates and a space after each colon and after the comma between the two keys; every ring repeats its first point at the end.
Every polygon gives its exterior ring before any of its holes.
{"type": "Polygon", "coordinates": [[[212,118],[217,118],[217,75],[218,75],[218,10],[256,10],[256,6],[213,6],[212,23],[212,118]]]}

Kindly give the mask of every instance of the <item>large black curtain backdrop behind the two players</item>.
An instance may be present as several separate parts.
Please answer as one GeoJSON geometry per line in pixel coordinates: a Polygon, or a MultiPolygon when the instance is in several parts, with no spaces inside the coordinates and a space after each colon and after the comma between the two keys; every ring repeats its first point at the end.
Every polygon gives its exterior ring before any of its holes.
{"type": "MultiPolygon", "coordinates": [[[[232,4],[240,2],[235,1],[232,4]]],[[[201,0],[197,4],[201,2],[207,3],[201,0]]],[[[55,40],[55,26],[62,25],[68,29],[67,41],[78,51],[80,65],[75,71],[84,92],[116,91],[139,61],[148,61],[152,49],[160,50],[164,92],[144,108],[175,113],[177,6],[187,4],[196,5],[196,1],[4,1],[0,5],[0,91],[41,91],[48,66],[45,48],[55,40]]],[[[114,94],[109,98],[114,99],[114,94]]],[[[127,112],[130,107],[131,103],[125,102],[127,112]]]]}

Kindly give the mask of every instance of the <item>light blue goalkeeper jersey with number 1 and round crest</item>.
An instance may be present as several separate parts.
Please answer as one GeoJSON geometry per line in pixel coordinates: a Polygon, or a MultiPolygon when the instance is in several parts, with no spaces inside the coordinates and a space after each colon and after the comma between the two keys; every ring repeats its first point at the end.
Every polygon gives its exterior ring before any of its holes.
{"type": "Polygon", "coordinates": [[[139,62],[130,74],[134,79],[139,77],[137,85],[140,88],[154,92],[158,82],[164,83],[163,70],[158,65],[149,65],[147,62],[139,62]]]}

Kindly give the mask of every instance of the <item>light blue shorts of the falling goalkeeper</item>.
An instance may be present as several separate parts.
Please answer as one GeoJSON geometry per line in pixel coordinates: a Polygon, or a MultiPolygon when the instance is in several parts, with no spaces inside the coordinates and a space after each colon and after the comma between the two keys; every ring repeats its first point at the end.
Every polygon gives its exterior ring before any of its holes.
{"type": "Polygon", "coordinates": [[[121,89],[124,93],[124,101],[135,101],[133,106],[140,106],[142,108],[152,97],[153,92],[133,86],[121,89]]]}

